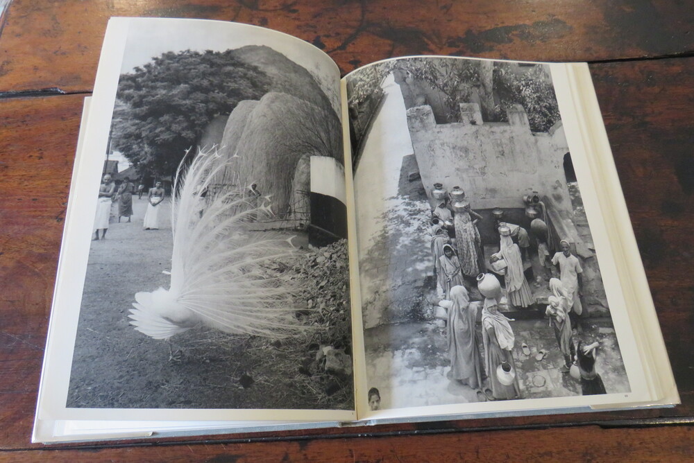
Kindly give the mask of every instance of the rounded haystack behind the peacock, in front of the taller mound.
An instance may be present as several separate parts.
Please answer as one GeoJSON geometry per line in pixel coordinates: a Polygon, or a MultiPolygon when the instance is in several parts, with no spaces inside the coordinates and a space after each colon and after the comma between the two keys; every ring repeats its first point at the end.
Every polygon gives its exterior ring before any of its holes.
{"type": "MultiPolygon", "coordinates": [[[[240,106],[240,105],[239,105],[240,106]]],[[[271,92],[263,96],[245,121],[230,118],[227,135],[241,132],[235,150],[242,185],[257,184],[262,195],[271,194],[274,213],[286,213],[291,204],[291,181],[303,155],[334,157],[342,161],[337,119],[296,96],[271,92]],[[243,125],[243,128],[241,128],[243,125]]],[[[233,146],[230,143],[230,146],[233,146]]]]}

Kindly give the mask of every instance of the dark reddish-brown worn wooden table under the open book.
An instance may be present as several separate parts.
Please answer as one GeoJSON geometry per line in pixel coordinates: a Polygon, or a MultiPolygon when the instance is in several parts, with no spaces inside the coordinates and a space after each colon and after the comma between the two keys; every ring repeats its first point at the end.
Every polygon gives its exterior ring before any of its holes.
{"type": "Polygon", "coordinates": [[[694,453],[694,8],[666,0],[0,0],[0,461],[674,460],[694,453]],[[4,8],[3,8],[4,7],[4,8]],[[157,442],[29,442],[83,98],[110,16],[266,26],[347,72],[588,61],[682,396],[672,409],[157,442]]]}

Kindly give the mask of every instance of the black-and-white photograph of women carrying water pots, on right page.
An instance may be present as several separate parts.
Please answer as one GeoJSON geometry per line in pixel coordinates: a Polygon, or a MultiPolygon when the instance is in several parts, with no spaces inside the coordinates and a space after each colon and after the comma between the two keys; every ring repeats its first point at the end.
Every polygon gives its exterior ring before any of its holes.
{"type": "Polygon", "coordinates": [[[346,80],[369,408],[630,392],[550,67],[346,80]]]}

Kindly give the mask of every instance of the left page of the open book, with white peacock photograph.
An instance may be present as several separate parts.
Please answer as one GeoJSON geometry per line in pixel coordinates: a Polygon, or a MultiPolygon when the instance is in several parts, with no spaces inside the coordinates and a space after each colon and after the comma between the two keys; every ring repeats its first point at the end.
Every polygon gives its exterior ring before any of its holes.
{"type": "Polygon", "coordinates": [[[294,37],[110,21],[37,419],[355,418],[339,105],[294,37]]]}

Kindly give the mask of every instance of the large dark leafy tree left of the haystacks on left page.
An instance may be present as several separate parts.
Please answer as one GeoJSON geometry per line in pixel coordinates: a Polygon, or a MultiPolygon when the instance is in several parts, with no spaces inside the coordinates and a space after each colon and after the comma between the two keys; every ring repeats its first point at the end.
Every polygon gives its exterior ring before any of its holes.
{"type": "Polygon", "coordinates": [[[170,175],[214,116],[257,100],[270,78],[227,51],[163,53],[121,75],[112,146],[153,175],[170,175]]]}

